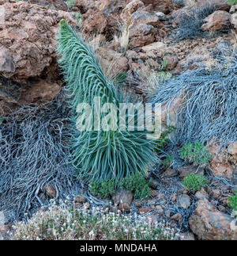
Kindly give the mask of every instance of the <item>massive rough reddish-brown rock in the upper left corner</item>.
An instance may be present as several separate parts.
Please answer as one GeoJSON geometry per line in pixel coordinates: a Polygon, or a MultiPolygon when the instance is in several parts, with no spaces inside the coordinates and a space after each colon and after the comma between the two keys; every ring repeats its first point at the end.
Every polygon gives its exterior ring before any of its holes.
{"type": "Polygon", "coordinates": [[[29,2],[6,2],[0,13],[0,75],[18,82],[40,76],[56,58],[58,23],[73,19],[62,10],[29,2]]]}

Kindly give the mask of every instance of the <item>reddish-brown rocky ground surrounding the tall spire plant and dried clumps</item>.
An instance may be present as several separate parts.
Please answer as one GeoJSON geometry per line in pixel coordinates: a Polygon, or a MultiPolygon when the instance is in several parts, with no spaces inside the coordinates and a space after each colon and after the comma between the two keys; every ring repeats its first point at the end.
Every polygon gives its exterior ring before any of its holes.
{"type": "MultiPolygon", "coordinates": [[[[160,71],[179,75],[198,67],[211,69],[216,61],[212,52],[220,43],[235,47],[237,6],[223,0],[209,2],[215,7],[209,7],[209,15],[198,32],[190,21],[191,32],[182,38],[185,33],[179,28],[183,13],[192,15],[192,10],[200,9],[205,1],[76,0],[67,6],[62,0],[0,0],[1,115],[5,117],[22,105],[51,101],[60,94],[64,84],[57,64],[55,36],[62,18],[85,35],[103,71],[111,78],[128,72],[127,90],[144,100],[154,93],[146,83],[149,75],[160,71]],[[137,78],[137,74],[141,77],[137,78]]],[[[182,186],[182,179],[197,171],[191,165],[152,170],[152,197],[148,200],[133,200],[128,191],[118,191],[112,199],[100,201],[84,189],[75,204],[145,212],[154,221],[163,220],[180,229],[182,239],[237,239],[228,207],[228,197],[235,193],[237,185],[237,142],[229,148],[228,158],[216,143],[210,144],[209,154],[210,166],[198,170],[205,174],[208,184],[197,193],[182,186]]],[[[56,196],[52,185],[44,192],[47,197],[56,196]]],[[[0,226],[0,238],[7,238],[10,227],[0,226]]]]}

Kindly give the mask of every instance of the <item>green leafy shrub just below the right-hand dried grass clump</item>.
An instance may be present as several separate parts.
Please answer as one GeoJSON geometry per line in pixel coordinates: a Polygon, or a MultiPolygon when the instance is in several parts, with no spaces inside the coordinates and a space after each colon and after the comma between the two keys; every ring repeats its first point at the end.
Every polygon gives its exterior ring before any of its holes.
{"type": "Polygon", "coordinates": [[[207,147],[198,141],[184,144],[179,151],[179,155],[186,162],[194,162],[194,165],[201,166],[209,165],[209,160],[211,159],[211,155],[207,152],[207,147]]]}

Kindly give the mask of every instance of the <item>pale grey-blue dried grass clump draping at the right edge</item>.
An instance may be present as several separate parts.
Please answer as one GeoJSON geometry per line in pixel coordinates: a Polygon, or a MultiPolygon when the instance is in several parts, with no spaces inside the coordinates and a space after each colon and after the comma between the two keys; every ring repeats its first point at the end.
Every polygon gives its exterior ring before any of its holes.
{"type": "Polygon", "coordinates": [[[171,78],[152,97],[152,103],[166,105],[167,124],[171,106],[178,109],[172,139],[175,145],[212,139],[227,145],[237,140],[237,52],[222,47],[216,55],[218,66],[171,78]]]}

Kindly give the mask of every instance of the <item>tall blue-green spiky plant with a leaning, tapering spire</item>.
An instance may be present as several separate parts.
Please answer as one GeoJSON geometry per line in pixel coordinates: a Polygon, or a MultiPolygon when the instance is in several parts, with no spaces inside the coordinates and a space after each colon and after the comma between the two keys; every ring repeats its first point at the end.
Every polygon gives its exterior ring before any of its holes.
{"type": "MultiPolygon", "coordinates": [[[[115,86],[110,82],[97,62],[92,50],[81,39],[66,21],[60,22],[58,36],[58,55],[67,89],[70,90],[73,108],[86,103],[92,108],[91,131],[73,129],[72,152],[73,164],[78,167],[82,177],[87,181],[114,179],[126,177],[134,172],[144,173],[156,160],[153,152],[154,143],[146,139],[147,132],[120,131],[119,129],[96,130],[94,125],[98,105],[94,98],[100,97],[100,107],[105,103],[114,103],[119,109],[119,103],[124,101],[119,96],[115,86]]],[[[73,120],[76,127],[79,113],[73,120]]]]}

